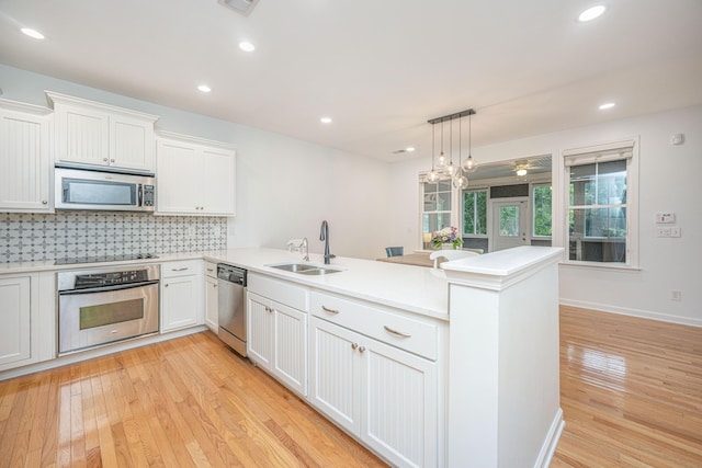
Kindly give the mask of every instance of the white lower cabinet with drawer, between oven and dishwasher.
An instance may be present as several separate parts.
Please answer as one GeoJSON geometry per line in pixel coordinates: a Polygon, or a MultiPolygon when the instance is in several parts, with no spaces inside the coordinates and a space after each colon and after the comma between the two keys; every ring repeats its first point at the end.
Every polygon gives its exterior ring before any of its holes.
{"type": "Polygon", "coordinates": [[[161,265],[161,332],[204,323],[200,260],[161,265]]]}

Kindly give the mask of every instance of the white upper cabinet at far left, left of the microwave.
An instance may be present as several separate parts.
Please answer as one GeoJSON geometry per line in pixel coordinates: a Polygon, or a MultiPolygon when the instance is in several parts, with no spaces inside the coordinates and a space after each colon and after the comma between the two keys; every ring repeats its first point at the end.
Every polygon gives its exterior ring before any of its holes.
{"type": "Polygon", "coordinates": [[[52,212],[50,110],[0,100],[0,209],[52,212]]]}

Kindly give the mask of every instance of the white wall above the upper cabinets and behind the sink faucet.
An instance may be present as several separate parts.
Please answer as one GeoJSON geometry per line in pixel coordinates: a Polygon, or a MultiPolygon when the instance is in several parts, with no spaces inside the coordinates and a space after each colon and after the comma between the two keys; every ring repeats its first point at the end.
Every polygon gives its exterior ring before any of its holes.
{"type": "Polygon", "coordinates": [[[321,252],[329,221],[331,253],[374,259],[388,246],[387,164],[279,134],[183,112],[0,65],[3,99],[47,105],[44,90],[159,115],[158,129],[230,142],[237,148],[237,216],[228,247],[284,248],[309,239],[321,252]]]}

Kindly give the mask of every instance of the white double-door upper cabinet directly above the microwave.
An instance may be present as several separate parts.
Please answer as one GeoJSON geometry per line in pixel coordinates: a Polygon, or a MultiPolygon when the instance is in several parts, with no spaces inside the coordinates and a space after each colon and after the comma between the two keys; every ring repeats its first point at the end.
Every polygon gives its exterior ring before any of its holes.
{"type": "Polygon", "coordinates": [[[56,119],[56,161],[155,171],[155,115],[47,92],[56,119]]]}

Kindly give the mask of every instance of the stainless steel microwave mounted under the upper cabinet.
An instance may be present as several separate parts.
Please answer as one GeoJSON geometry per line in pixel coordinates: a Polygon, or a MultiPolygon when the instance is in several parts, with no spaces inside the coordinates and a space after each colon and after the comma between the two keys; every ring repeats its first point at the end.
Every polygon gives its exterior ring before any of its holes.
{"type": "Polygon", "coordinates": [[[152,174],[57,165],[54,182],[56,209],[154,212],[156,205],[152,174]]]}

